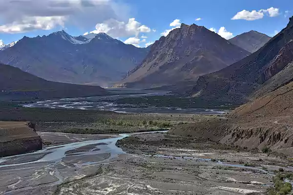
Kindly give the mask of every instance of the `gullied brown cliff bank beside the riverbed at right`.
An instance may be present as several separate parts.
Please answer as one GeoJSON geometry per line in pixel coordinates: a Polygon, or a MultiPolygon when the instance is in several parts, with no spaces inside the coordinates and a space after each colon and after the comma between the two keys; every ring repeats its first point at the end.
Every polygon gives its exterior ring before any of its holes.
{"type": "Polygon", "coordinates": [[[268,147],[272,152],[293,155],[293,136],[286,122],[276,118],[259,121],[210,120],[174,127],[170,134],[204,137],[215,142],[258,150],[268,147]]]}

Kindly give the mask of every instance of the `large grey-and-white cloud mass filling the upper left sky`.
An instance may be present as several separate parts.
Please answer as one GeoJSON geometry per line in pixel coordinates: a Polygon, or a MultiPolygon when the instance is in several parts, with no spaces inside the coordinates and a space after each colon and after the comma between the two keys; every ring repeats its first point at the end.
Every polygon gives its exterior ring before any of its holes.
{"type": "Polygon", "coordinates": [[[114,0],[0,0],[0,32],[50,30],[65,23],[89,28],[110,18],[125,20],[127,14],[127,6],[114,0]]]}

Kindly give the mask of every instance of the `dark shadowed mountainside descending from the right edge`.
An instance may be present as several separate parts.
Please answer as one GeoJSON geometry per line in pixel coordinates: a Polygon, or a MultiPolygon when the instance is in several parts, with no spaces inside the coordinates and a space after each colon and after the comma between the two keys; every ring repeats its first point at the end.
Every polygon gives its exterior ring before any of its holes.
{"type": "Polygon", "coordinates": [[[233,103],[264,96],[293,81],[293,17],[262,48],[218,72],[202,76],[193,97],[233,103]]]}

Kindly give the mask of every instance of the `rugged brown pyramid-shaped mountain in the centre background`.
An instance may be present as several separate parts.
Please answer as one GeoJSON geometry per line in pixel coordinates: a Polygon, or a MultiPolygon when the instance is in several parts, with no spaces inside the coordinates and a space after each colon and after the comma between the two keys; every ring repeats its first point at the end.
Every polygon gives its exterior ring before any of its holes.
{"type": "Polygon", "coordinates": [[[117,86],[154,88],[194,82],[250,53],[203,26],[182,24],[151,47],[140,66],[117,86]]]}

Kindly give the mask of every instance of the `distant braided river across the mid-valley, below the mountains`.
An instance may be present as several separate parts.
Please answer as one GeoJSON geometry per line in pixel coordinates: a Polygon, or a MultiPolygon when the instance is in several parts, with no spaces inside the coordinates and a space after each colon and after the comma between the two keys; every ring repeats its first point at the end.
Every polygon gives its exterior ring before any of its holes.
{"type": "Polygon", "coordinates": [[[180,106],[152,106],[129,103],[117,103],[122,98],[140,98],[153,96],[166,96],[167,91],[157,90],[131,90],[131,89],[107,89],[108,96],[86,98],[63,98],[56,100],[44,100],[35,103],[27,103],[22,106],[28,108],[51,109],[80,109],[80,110],[106,110],[116,113],[148,113],[148,114],[223,114],[225,110],[184,108],[180,106]]]}

